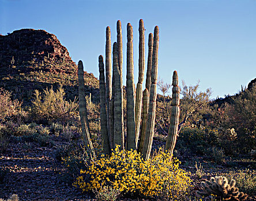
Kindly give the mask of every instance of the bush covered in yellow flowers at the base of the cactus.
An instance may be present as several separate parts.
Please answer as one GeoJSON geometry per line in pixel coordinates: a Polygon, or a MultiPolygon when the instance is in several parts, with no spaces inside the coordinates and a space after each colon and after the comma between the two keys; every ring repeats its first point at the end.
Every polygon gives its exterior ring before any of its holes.
{"type": "Polygon", "coordinates": [[[162,149],[145,161],[136,150],[120,150],[116,146],[110,157],[92,159],[80,171],[74,185],[82,191],[100,190],[105,186],[122,194],[158,197],[163,191],[169,198],[185,194],[190,186],[187,172],[179,168],[179,160],[171,159],[162,149]]]}

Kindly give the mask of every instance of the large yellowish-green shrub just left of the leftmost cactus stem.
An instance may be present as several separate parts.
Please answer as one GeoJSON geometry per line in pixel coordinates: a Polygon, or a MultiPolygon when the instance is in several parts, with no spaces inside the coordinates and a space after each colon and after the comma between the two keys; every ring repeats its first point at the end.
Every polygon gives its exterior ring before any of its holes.
{"type": "Polygon", "coordinates": [[[75,117],[77,113],[78,103],[75,99],[73,102],[66,101],[65,92],[62,87],[54,92],[51,88],[43,91],[43,95],[35,90],[35,99],[32,101],[31,118],[36,122],[67,122],[75,117]]]}

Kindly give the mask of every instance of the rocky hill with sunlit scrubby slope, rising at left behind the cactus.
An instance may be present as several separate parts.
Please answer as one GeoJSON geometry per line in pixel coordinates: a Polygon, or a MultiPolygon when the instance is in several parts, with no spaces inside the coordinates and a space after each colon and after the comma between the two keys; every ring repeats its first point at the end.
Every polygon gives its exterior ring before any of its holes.
{"type": "MultiPolygon", "coordinates": [[[[13,98],[31,103],[33,91],[61,84],[68,99],[78,96],[77,65],[54,34],[45,30],[21,29],[0,35],[0,87],[13,98]]],[[[99,81],[85,72],[86,92],[99,94],[99,81]]]]}

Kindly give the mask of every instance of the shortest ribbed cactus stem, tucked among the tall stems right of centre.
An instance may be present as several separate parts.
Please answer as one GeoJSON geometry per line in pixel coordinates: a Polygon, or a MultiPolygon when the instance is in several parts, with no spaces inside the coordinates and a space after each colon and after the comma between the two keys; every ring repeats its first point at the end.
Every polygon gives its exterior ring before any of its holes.
{"type": "Polygon", "coordinates": [[[145,132],[146,132],[146,118],[148,115],[148,105],[149,105],[149,92],[145,88],[143,92],[143,110],[142,110],[142,124],[141,124],[141,136],[140,136],[140,144],[138,146],[138,152],[142,152],[142,147],[145,140],[145,132]]]}

